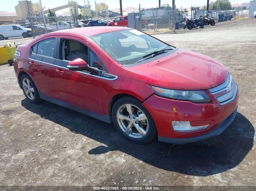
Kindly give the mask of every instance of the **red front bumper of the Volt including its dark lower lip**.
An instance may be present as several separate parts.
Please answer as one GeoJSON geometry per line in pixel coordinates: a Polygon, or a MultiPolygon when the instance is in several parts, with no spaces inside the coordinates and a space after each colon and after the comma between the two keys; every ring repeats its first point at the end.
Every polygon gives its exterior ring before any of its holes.
{"type": "MultiPolygon", "coordinates": [[[[218,94],[215,95],[218,96],[218,94]]],[[[219,130],[215,131],[215,129],[222,129],[220,124],[227,123],[228,117],[236,111],[239,98],[238,90],[225,104],[219,103],[211,93],[209,96],[212,100],[211,103],[193,103],[162,98],[153,94],[142,105],[155,121],[159,141],[174,143],[180,139],[179,143],[182,141],[189,143],[201,140],[202,137],[205,139],[208,136],[218,135],[219,130]],[[177,132],[172,127],[172,121],[189,121],[192,127],[210,125],[201,130],[177,132]]]]}

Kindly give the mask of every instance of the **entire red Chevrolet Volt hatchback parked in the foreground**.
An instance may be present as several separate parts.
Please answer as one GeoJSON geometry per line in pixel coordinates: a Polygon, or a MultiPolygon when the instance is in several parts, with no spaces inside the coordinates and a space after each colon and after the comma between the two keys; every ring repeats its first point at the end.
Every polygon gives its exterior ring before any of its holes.
{"type": "Polygon", "coordinates": [[[113,122],[135,143],[156,135],[167,143],[204,140],[236,116],[236,81],[221,63],[131,28],[47,33],[20,45],[14,60],[28,101],[113,122]]]}

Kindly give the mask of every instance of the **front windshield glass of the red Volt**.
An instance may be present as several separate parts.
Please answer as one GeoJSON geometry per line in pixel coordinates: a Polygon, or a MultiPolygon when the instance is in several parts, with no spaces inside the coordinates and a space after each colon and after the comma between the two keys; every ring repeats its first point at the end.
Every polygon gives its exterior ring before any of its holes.
{"type": "Polygon", "coordinates": [[[149,53],[170,48],[135,29],[102,33],[90,38],[121,65],[133,64],[149,53]]]}

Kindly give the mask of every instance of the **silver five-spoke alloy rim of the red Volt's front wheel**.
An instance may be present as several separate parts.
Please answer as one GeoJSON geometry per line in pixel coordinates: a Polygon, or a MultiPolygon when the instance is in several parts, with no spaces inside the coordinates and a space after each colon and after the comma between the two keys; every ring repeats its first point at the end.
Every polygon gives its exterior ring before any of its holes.
{"type": "Polygon", "coordinates": [[[141,138],[148,133],[148,118],[141,109],[132,104],[125,104],[117,110],[117,122],[125,134],[141,138]]]}

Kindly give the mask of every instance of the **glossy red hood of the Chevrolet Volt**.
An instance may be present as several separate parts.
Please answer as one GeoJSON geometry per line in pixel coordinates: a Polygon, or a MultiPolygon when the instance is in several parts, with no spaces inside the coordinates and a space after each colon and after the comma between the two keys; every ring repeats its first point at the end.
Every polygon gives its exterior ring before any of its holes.
{"type": "Polygon", "coordinates": [[[227,69],[209,56],[179,49],[176,52],[137,66],[125,67],[132,80],[176,90],[204,90],[228,77],[227,69]]]}

